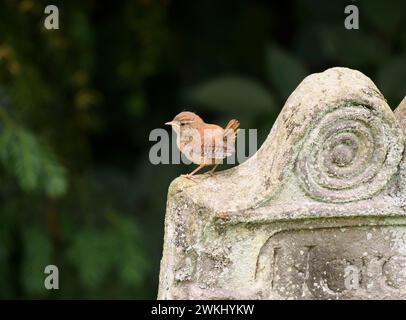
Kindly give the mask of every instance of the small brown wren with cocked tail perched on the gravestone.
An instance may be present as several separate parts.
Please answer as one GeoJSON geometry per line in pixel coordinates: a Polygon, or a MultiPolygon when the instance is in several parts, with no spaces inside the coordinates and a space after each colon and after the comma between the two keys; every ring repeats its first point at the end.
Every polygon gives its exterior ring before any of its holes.
{"type": "Polygon", "coordinates": [[[172,121],[165,123],[176,132],[176,144],[187,159],[199,166],[191,173],[184,175],[190,178],[205,166],[214,165],[210,174],[222,160],[235,151],[234,143],[240,123],[233,119],[222,127],[205,123],[193,112],[179,113],[172,121]]]}

